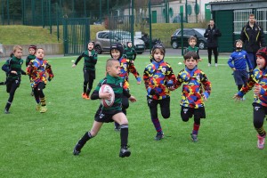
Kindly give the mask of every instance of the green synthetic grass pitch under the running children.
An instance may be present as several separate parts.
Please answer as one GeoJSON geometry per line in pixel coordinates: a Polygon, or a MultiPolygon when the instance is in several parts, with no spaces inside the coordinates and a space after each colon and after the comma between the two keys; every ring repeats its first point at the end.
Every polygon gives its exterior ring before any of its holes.
{"type": "MultiPolygon", "coordinates": [[[[94,85],[104,77],[109,55],[99,55],[94,85]]],[[[203,57],[203,59],[206,59],[203,57]]],[[[104,124],[100,133],[86,143],[78,157],[72,155],[77,140],[93,124],[100,101],[81,98],[82,64],[72,69],[76,57],[50,58],[54,79],[44,89],[48,111],[40,114],[30,96],[28,77],[22,77],[10,115],[4,114],[8,94],[0,86],[0,173],[1,177],[265,177],[266,149],[256,148],[252,123],[253,94],[235,102],[237,92],[226,59],[218,68],[198,64],[212,82],[206,101],[206,119],[201,120],[198,142],[190,141],[193,119],[182,122],[179,101],[181,88],[171,96],[171,117],[160,122],[166,137],[154,141],[144,85],[130,75],[131,93],[138,100],[127,109],[129,144],[132,155],[119,158],[119,133],[113,124],[104,124]]],[[[166,56],[174,73],[183,68],[182,58],[166,56]]],[[[1,66],[4,61],[1,61],[1,66]]],[[[142,74],[149,56],[138,56],[135,66],[142,74]]],[[[23,69],[24,66],[23,66],[23,69]]],[[[4,80],[4,72],[0,73],[4,80]]],[[[158,113],[160,116],[160,113],[158,113]]]]}

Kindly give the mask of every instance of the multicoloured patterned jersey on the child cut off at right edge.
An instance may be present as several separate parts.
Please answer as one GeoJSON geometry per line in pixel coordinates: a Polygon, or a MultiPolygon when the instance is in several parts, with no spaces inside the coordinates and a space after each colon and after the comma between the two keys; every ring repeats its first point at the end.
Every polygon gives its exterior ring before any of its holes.
{"type": "Polygon", "coordinates": [[[254,94],[254,102],[267,107],[267,69],[254,69],[248,79],[247,85],[240,89],[238,93],[239,97],[243,97],[255,85],[261,85],[262,90],[260,94],[254,94]]]}

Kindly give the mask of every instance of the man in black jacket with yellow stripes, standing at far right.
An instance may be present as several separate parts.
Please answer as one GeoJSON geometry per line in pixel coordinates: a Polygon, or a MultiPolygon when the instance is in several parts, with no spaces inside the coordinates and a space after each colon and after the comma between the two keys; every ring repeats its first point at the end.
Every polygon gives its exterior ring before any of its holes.
{"type": "Polygon", "coordinates": [[[244,42],[245,51],[247,51],[249,60],[253,66],[253,69],[256,67],[256,56],[255,53],[263,46],[264,42],[264,33],[263,28],[255,22],[255,15],[250,14],[247,25],[242,28],[240,39],[244,42]]]}

